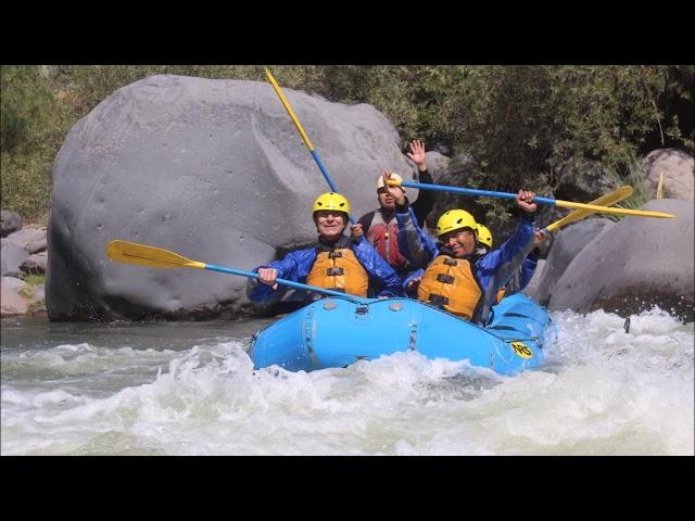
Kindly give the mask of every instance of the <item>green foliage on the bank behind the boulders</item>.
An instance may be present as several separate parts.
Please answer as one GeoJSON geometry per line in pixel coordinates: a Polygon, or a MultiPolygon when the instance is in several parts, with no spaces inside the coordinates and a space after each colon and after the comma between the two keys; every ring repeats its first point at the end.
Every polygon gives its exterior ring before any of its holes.
{"type": "MultiPolygon", "coordinates": [[[[598,160],[627,176],[655,148],[694,153],[693,65],[269,65],[283,88],[369,103],[412,139],[445,136],[479,171],[462,186],[546,192],[555,165],[598,160]]],[[[153,74],[266,81],[260,65],[2,66],[2,207],[46,218],[50,168],[70,128],[153,74]]],[[[320,143],[315,143],[320,147],[320,143]]],[[[500,201],[478,211],[504,219],[500,201]]]]}

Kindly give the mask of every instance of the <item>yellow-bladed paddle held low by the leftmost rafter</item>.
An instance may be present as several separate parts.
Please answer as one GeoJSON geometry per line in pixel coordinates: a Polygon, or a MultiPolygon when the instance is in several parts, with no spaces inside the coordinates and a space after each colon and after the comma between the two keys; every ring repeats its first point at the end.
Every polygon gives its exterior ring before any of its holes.
{"type": "MultiPolygon", "coordinates": [[[[227,268],[225,266],[215,266],[214,264],[200,263],[198,260],[191,260],[177,253],[169,252],[155,246],[147,246],[144,244],[137,244],[135,242],[126,241],[111,241],[106,246],[106,256],[111,260],[125,264],[136,264],[138,266],[147,266],[149,268],[198,268],[210,269],[211,271],[220,271],[223,274],[239,275],[241,277],[249,277],[250,279],[260,279],[258,274],[252,271],[243,271],[241,269],[227,268]]],[[[327,290],[325,288],[317,288],[315,285],[302,284],[300,282],[293,282],[291,280],[276,279],[278,284],[289,285],[298,290],[317,291],[326,293],[331,296],[342,296],[359,303],[368,302],[359,296],[341,293],[339,291],[327,290]]]]}

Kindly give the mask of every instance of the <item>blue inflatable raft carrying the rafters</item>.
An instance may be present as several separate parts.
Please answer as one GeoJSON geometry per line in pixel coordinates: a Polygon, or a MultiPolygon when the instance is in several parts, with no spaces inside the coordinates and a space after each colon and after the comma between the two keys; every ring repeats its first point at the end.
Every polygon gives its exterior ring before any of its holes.
{"type": "Polygon", "coordinates": [[[541,365],[547,310],[522,293],[493,309],[493,319],[481,328],[410,298],[361,304],[331,296],[258,331],[249,355],[255,368],[278,365],[291,371],[345,367],[409,350],[432,359],[467,359],[501,374],[541,365]]]}

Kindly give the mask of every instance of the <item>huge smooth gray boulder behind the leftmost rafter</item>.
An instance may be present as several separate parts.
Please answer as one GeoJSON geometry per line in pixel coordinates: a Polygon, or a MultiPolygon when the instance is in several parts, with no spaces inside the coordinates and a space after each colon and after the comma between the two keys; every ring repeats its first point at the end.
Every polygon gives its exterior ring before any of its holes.
{"type": "MultiPolygon", "coordinates": [[[[283,92],[355,218],[376,207],[382,169],[414,179],[372,106],[283,92]]],[[[170,75],[118,89],[79,120],[52,176],[51,320],[236,314],[245,279],[113,263],[106,244],[250,270],[315,242],[312,205],[329,191],[269,84],[170,75]]]]}

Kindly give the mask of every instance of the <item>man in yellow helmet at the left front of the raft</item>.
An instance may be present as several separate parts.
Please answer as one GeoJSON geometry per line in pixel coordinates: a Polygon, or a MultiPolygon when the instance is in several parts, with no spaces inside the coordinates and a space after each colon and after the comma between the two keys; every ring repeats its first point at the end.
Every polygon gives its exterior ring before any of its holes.
{"type": "MultiPolygon", "coordinates": [[[[317,244],[255,268],[260,279],[252,280],[248,287],[251,301],[279,296],[283,289],[278,290],[278,278],[357,296],[402,294],[399,276],[371,244],[343,233],[350,219],[350,203],[345,198],[334,192],[319,195],[314,202],[313,217],[318,231],[317,244]]],[[[304,295],[302,298],[306,300],[304,295]]]]}

